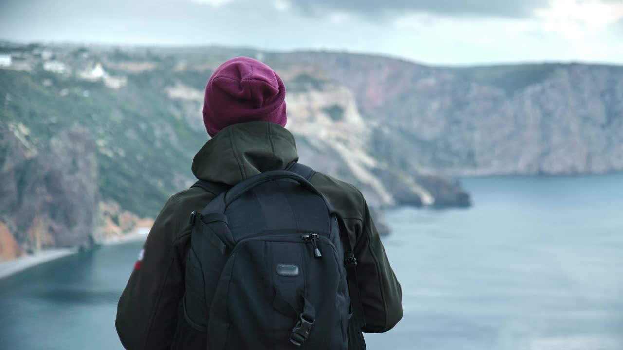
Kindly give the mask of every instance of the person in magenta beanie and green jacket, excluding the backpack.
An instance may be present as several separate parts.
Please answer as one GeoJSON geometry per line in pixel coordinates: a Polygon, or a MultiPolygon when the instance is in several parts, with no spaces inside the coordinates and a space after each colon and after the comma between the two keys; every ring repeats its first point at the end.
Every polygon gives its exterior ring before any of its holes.
{"type": "MultiPolygon", "coordinates": [[[[194,156],[197,179],[234,186],[298,161],[285,129],[285,86],[269,66],[239,57],[220,65],[206,86],[204,124],[210,140],[194,156]]],[[[354,247],[365,333],[381,333],[402,318],[402,291],[370,210],[356,187],[316,172],[310,178],[343,219],[354,247]]],[[[214,194],[192,187],[171,196],[158,214],[121,294],[115,325],[126,349],[169,349],[184,296],[189,214],[214,194]]]]}

